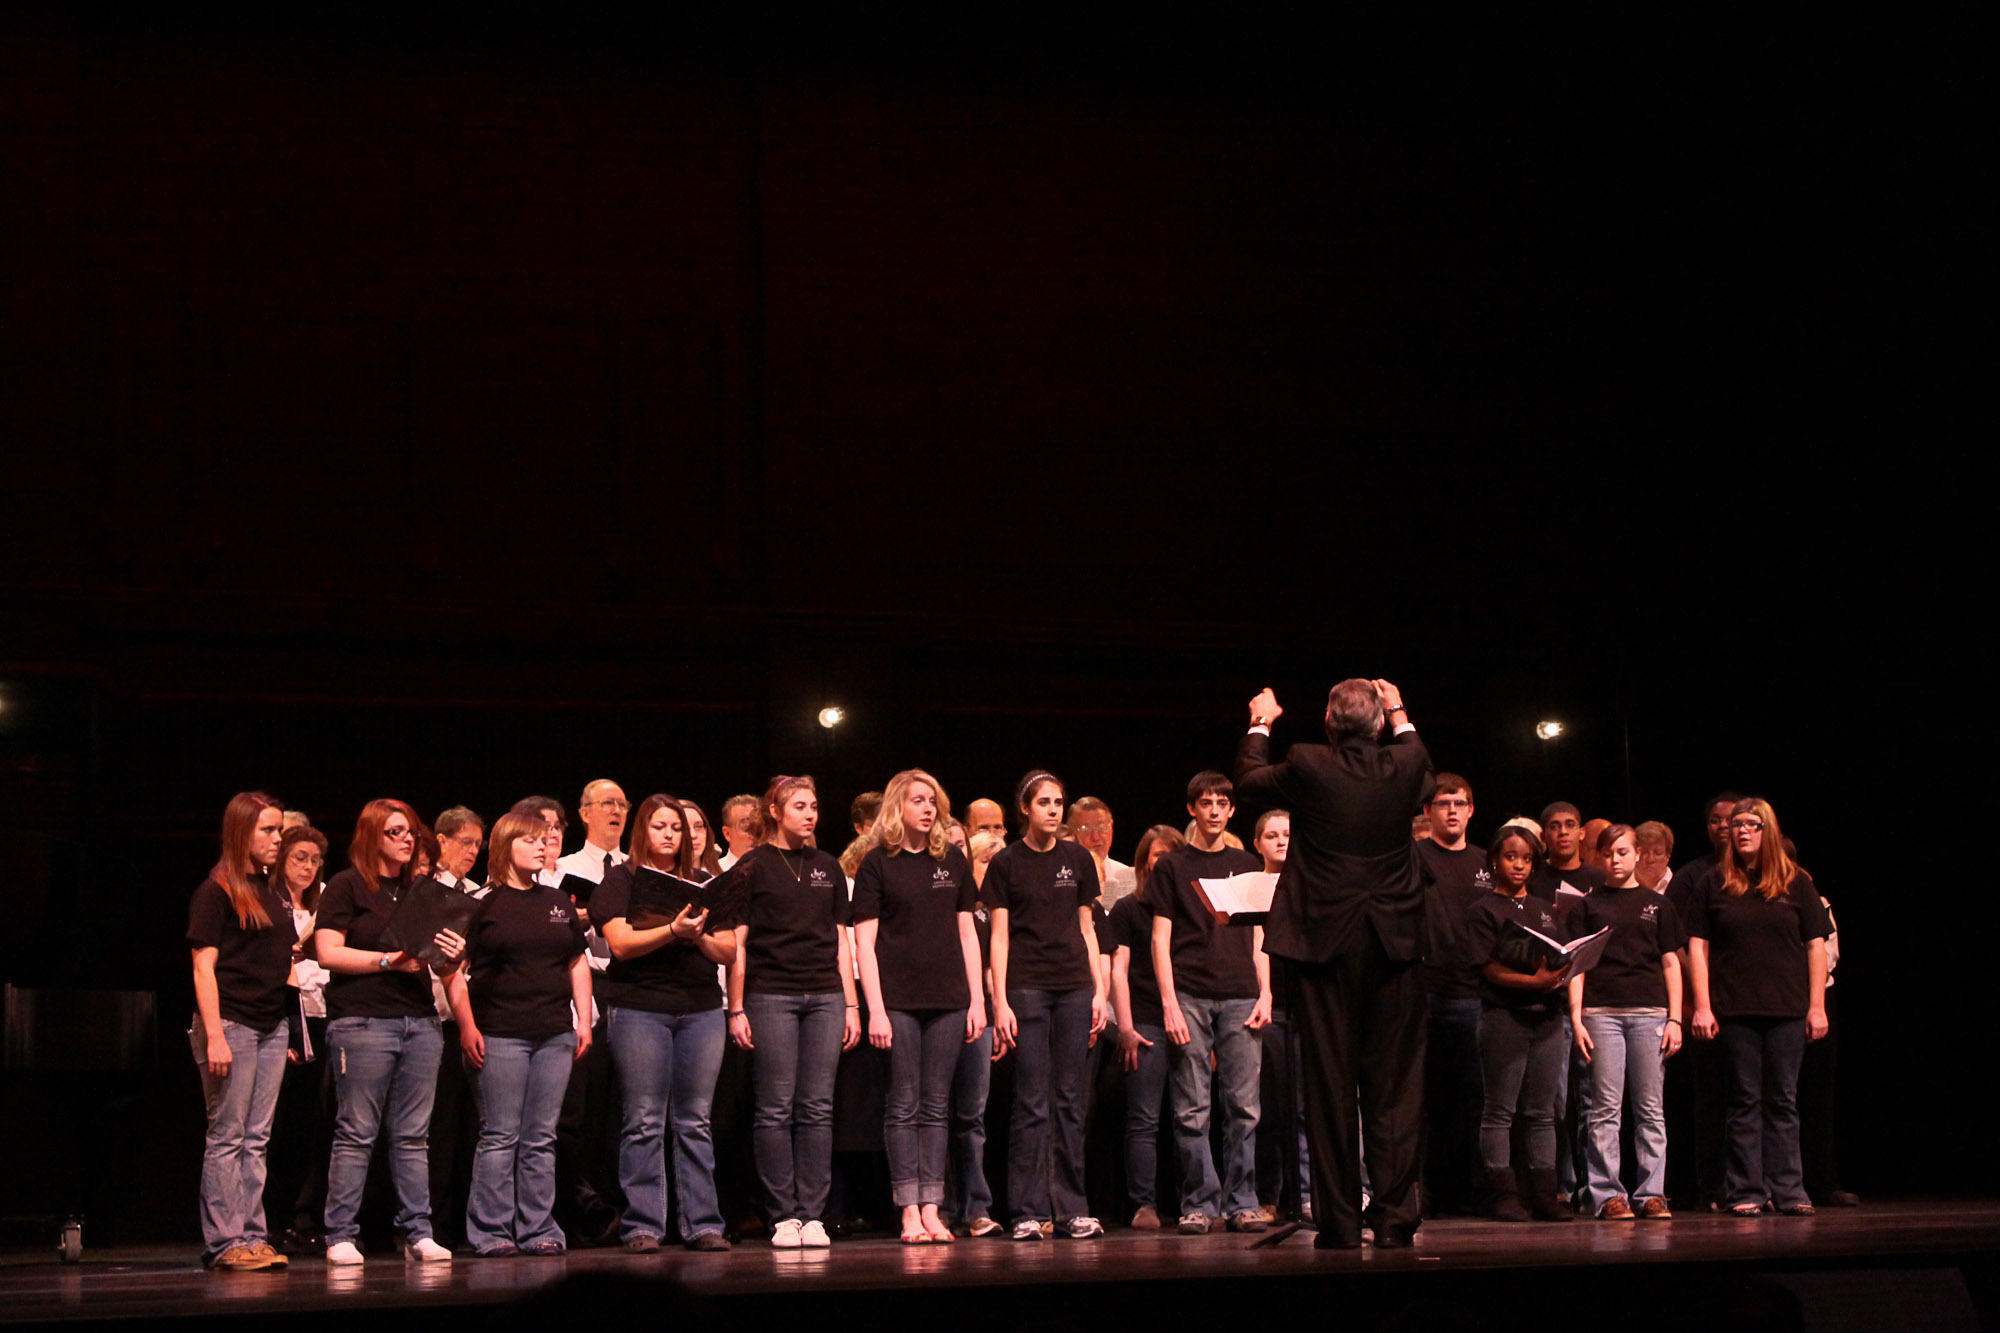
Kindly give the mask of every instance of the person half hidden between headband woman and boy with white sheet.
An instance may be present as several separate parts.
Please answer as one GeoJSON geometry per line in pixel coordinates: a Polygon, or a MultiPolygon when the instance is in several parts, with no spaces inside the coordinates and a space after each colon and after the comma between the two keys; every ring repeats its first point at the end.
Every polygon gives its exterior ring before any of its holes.
{"type": "Polygon", "coordinates": [[[1112,1013],[1126,1083],[1126,1197],[1136,1231],[1160,1229],[1160,1119],[1166,1115],[1166,1013],[1152,975],[1152,905],[1146,881],[1160,857],[1186,847],[1172,825],[1154,825],[1132,853],[1132,893],[1112,905],[1104,943],[1112,949],[1112,1013]]]}

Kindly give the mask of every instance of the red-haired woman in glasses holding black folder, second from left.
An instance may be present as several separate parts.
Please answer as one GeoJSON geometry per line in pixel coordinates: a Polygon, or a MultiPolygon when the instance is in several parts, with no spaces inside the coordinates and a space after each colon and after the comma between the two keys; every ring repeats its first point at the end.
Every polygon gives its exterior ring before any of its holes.
{"type": "MultiPolygon", "coordinates": [[[[326,1263],[362,1263],[360,1205],[376,1133],[386,1131],[404,1259],[440,1263],[430,1235],[430,1107],[444,1033],[416,955],[382,949],[396,903],[414,883],[418,819],[402,801],[370,801],[354,827],[348,869],[326,883],[314,931],[326,983],[326,1047],[334,1067],[334,1147],[326,1165],[326,1263]]],[[[440,931],[458,965],[466,941],[440,931]]]]}

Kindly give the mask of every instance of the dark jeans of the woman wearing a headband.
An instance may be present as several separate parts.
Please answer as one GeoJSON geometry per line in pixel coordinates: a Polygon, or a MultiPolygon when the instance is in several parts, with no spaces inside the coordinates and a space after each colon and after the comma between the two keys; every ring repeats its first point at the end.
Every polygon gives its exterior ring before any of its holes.
{"type": "Polygon", "coordinates": [[[1008,1119],[1006,1197],[1014,1221],[1084,1217],[1084,1065],[1090,1061],[1090,987],[1008,987],[1020,1027],[1014,1115],[1008,1119]]]}

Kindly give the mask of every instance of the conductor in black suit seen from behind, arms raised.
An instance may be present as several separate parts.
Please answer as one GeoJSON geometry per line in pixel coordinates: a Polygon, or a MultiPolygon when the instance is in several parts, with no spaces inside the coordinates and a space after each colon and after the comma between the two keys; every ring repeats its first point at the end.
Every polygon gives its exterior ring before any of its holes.
{"type": "Polygon", "coordinates": [[[1294,983],[1320,1225],[1314,1243],[1362,1243],[1360,1139],[1374,1185],[1366,1219],[1374,1243],[1404,1247],[1422,1221],[1424,1111],[1424,883],[1410,817],[1432,793],[1430,755],[1388,681],[1336,685],[1326,697],[1328,745],[1294,745],[1274,765],[1270,725],[1280,713],[1268,689],[1250,701],[1236,793],[1292,813],[1292,851],[1264,951],[1288,959],[1294,983]]]}

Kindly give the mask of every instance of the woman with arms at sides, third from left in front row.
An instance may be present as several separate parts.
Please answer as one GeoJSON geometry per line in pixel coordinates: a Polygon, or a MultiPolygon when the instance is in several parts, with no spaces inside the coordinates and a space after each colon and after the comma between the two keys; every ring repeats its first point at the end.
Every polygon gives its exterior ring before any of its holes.
{"type": "Polygon", "coordinates": [[[494,825],[490,893],[466,927],[466,967],[446,979],[480,1107],[466,1241],[482,1259],[568,1249],[554,1217],[556,1117],[590,1051],[590,961],[570,895],[538,879],[544,833],[532,815],[494,825]]]}

